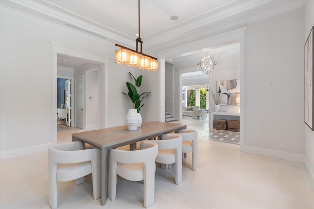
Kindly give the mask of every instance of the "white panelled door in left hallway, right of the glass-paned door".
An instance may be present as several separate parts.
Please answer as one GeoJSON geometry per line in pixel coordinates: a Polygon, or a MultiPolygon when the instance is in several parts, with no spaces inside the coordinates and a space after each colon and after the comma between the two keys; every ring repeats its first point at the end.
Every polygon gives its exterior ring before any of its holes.
{"type": "Polygon", "coordinates": [[[84,76],[75,77],[76,127],[84,129],[84,76]]]}

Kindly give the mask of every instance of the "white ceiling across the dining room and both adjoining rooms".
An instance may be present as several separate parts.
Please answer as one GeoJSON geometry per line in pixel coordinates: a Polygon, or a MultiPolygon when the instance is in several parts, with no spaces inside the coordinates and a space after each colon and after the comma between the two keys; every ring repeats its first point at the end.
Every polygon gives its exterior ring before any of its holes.
{"type": "MultiPolygon", "coordinates": [[[[138,0],[0,0],[10,7],[52,23],[135,49],[138,0]]],[[[246,23],[304,6],[304,0],[140,0],[140,36],[143,52],[180,46],[246,23]],[[178,20],[171,20],[178,16],[178,20]]],[[[236,43],[204,48],[202,52],[171,60],[176,68],[189,68],[200,57],[238,53],[236,43]]],[[[58,57],[58,65],[77,67],[85,61],[58,57]],[[67,60],[63,62],[62,60],[67,60]]]]}

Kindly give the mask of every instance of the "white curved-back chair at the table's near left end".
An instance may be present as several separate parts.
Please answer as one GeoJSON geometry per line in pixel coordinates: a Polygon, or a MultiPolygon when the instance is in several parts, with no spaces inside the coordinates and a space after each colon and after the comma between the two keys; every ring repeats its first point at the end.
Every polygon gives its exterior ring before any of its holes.
{"type": "Polygon", "coordinates": [[[48,186],[49,204],[52,209],[58,207],[57,181],[75,180],[79,185],[84,177],[92,173],[93,198],[101,196],[101,152],[100,149],[83,149],[82,142],[72,141],[54,144],[48,149],[48,186]]]}

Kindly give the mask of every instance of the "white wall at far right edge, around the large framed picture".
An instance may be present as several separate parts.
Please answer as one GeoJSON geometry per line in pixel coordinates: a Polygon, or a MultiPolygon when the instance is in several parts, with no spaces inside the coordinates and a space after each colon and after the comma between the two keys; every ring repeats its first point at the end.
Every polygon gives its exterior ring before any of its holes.
{"type": "MultiPolygon", "coordinates": [[[[314,26],[314,1],[307,0],[305,4],[305,36],[304,44],[308,38],[311,28],[314,26]]],[[[312,187],[314,189],[314,131],[306,124],[305,126],[305,155],[306,168],[310,176],[312,187]]]]}

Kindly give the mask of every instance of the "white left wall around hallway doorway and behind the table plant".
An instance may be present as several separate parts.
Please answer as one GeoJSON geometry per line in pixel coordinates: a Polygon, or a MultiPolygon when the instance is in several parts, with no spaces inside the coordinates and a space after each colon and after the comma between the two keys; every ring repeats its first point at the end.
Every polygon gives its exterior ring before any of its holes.
{"type": "MultiPolygon", "coordinates": [[[[20,15],[20,14],[18,14],[20,15]]],[[[131,67],[114,62],[113,44],[90,36],[76,35],[51,23],[41,23],[29,16],[20,18],[0,13],[0,152],[1,159],[47,149],[52,143],[52,45],[50,41],[102,54],[108,58],[107,125],[125,125],[129,101],[121,92],[132,81],[131,67]],[[36,82],[34,82],[36,81],[36,82]]],[[[142,73],[143,72],[143,73],[142,73]]],[[[145,121],[157,120],[157,72],[145,74],[151,93],[141,112],[145,121]],[[152,74],[151,74],[152,73],[152,74]],[[152,76],[153,74],[156,76],[152,76]],[[154,102],[150,104],[150,100],[154,102]],[[149,113],[149,114],[148,114],[149,113]],[[148,116],[146,116],[148,114],[148,116]]],[[[56,83],[56,80],[53,81],[56,83]]],[[[103,86],[102,86],[103,87],[103,86]]]]}

